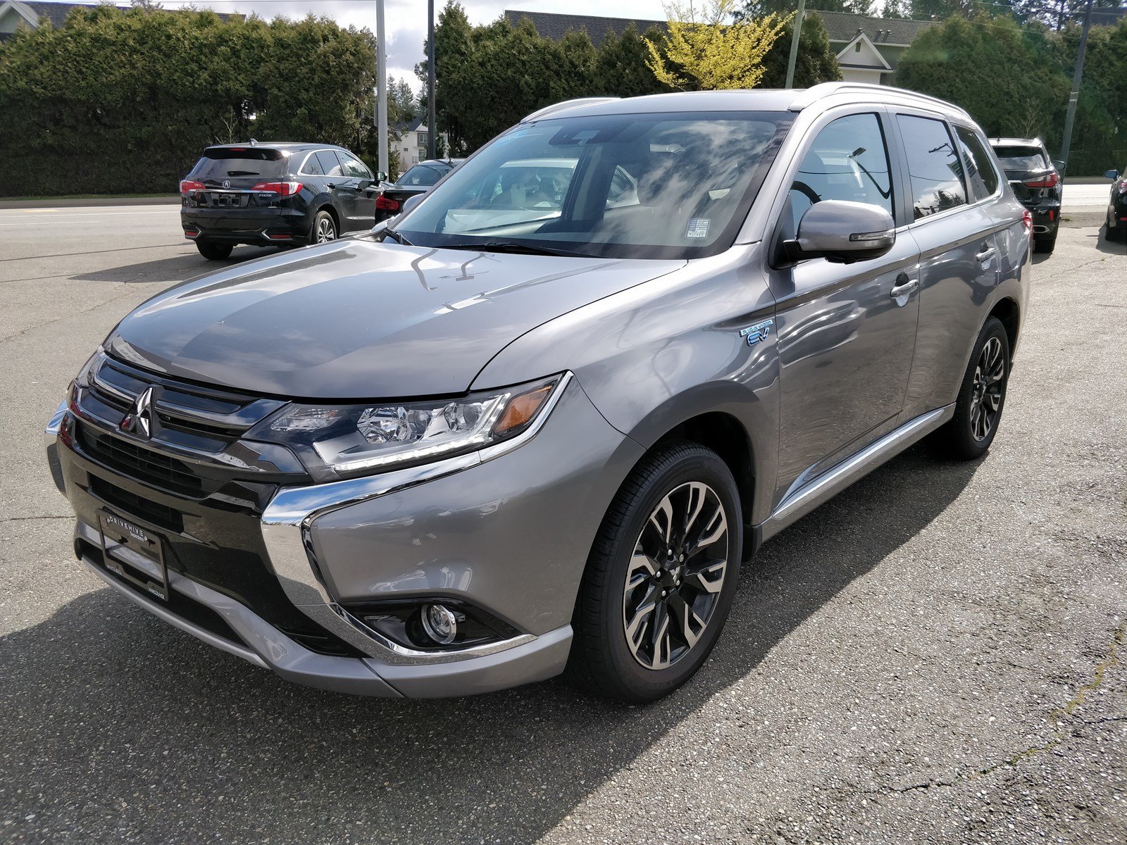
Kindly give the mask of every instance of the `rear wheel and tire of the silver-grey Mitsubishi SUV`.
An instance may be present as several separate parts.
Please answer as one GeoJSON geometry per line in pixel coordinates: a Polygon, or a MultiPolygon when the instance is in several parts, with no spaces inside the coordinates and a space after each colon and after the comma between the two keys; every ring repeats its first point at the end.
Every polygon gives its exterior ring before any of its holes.
{"type": "Polygon", "coordinates": [[[962,376],[955,417],[933,438],[946,457],[973,461],[986,454],[1002,421],[1010,382],[1010,338],[996,317],[986,320],[962,376]]]}

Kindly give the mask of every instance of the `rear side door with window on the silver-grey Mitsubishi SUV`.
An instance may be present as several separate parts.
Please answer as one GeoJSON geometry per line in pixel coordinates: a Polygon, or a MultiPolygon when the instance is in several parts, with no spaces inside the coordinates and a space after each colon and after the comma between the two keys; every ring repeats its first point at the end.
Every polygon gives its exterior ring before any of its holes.
{"type": "Polygon", "coordinates": [[[975,195],[974,180],[968,185],[968,162],[947,121],[925,110],[896,112],[908,232],[920,248],[920,330],[904,402],[911,419],[956,399],[984,305],[1001,279],[1001,224],[990,213],[990,197],[975,195]]]}

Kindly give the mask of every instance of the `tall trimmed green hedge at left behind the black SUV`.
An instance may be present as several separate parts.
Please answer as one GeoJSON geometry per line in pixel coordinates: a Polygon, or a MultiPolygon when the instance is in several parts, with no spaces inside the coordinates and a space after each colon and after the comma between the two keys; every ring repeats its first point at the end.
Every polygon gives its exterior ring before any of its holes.
{"type": "Polygon", "coordinates": [[[371,133],[375,44],[330,20],[99,6],[0,45],[0,196],[175,193],[211,143],[371,133]]]}

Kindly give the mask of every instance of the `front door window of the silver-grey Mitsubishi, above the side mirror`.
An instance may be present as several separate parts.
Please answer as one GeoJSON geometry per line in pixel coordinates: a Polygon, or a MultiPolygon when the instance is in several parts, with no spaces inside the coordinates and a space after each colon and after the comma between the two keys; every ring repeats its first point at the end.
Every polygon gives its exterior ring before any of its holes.
{"type": "Polygon", "coordinates": [[[795,231],[815,203],[848,199],[893,214],[888,152],[876,115],[849,115],[827,124],[799,164],[790,188],[795,231]]]}

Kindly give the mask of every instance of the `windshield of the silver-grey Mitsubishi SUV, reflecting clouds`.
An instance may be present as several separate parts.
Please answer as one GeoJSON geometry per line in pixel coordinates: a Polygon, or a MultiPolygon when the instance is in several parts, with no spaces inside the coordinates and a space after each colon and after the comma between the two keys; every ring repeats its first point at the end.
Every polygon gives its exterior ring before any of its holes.
{"type": "Polygon", "coordinates": [[[789,113],[603,115],[521,124],[405,215],[426,247],[693,258],[735,239],[789,113]]]}

